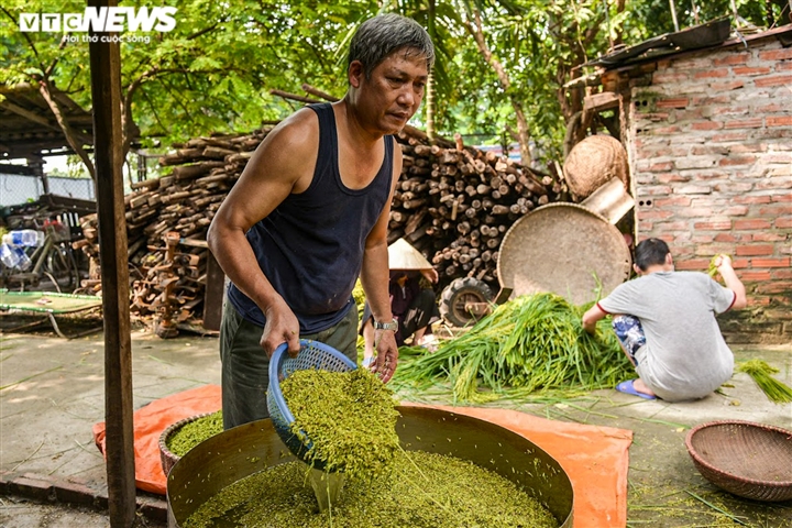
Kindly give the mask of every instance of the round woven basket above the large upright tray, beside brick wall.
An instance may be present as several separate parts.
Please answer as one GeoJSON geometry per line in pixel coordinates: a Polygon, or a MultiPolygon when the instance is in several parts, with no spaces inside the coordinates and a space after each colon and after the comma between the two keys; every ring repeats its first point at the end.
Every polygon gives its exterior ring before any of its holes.
{"type": "Polygon", "coordinates": [[[629,190],[627,151],[616,138],[590,135],[572,147],[563,164],[570,193],[582,200],[617,177],[629,190]]]}

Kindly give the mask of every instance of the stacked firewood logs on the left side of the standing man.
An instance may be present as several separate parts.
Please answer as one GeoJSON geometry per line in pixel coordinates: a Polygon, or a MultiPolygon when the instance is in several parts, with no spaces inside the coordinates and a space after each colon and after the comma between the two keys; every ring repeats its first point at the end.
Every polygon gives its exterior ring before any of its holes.
{"type": "MultiPolygon", "coordinates": [[[[166,176],[134,184],[124,197],[133,316],[154,318],[170,334],[176,323],[200,324],[206,289],[206,233],[215,212],[272,128],[238,136],[198,138],[160,158],[166,176]],[[176,250],[170,248],[174,238],[176,250]]],[[[75,242],[98,263],[97,216],[82,217],[75,242]]],[[[91,266],[98,272],[98,264],[91,266]]],[[[84,287],[98,290],[94,273],[84,287]]],[[[160,332],[158,332],[160,333],[160,332]]],[[[163,336],[166,337],[166,336],[163,336]]]]}

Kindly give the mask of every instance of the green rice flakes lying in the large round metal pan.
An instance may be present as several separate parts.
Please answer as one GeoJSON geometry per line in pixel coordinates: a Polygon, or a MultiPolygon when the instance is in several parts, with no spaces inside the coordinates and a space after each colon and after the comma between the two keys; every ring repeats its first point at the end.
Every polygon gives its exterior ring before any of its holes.
{"type": "Polygon", "coordinates": [[[348,479],[332,512],[319,512],[306,465],[287,462],[220,491],[185,528],[256,526],[304,528],[558,528],[535,497],[508,479],[470,461],[399,451],[389,473],[348,479]]]}

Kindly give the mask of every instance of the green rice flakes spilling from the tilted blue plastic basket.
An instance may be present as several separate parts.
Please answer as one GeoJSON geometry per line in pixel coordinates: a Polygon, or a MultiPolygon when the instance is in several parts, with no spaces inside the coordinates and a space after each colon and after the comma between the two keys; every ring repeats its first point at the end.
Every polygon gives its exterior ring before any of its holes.
{"type": "Polygon", "coordinates": [[[321,460],[326,471],[346,475],[388,472],[399,450],[398,402],[371,371],[300,370],[280,388],[295,417],[292,431],[311,443],[308,460],[321,460]]]}

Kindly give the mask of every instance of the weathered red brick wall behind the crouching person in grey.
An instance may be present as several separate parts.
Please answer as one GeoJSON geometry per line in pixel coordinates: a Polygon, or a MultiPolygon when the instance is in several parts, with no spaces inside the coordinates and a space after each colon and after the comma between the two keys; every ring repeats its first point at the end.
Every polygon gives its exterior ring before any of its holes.
{"type": "Polygon", "coordinates": [[[774,36],[622,74],[637,239],[678,270],[733,255],[749,307],[727,339],[792,342],[792,47],[774,36]]]}

